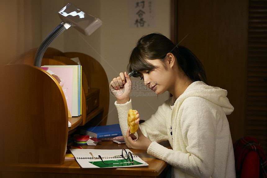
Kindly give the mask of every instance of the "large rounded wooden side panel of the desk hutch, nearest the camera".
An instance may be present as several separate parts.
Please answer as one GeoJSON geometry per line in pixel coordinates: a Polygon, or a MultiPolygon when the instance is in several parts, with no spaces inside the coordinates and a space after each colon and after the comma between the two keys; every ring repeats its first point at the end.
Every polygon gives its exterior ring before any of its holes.
{"type": "Polygon", "coordinates": [[[36,66],[8,64],[3,71],[0,162],[64,163],[68,109],[61,86],[36,66]]]}

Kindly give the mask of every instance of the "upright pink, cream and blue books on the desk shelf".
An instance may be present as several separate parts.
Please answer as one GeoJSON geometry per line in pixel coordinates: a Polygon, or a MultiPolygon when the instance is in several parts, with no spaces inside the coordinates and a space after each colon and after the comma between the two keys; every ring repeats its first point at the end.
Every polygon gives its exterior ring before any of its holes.
{"type": "Polygon", "coordinates": [[[82,66],[63,65],[63,66],[41,66],[54,77],[61,86],[65,94],[68,110],[71,116],[80,116],[82,113],[82,66]]]}

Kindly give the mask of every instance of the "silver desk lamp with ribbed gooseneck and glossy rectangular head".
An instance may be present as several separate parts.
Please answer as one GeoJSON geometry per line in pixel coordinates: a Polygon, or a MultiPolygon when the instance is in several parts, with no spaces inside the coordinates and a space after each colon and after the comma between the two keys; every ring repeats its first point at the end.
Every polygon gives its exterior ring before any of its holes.
{"type": "Polygon", "coordinates": [[[99,26],[102,25],[102,21],[98,18],[82,11],[75,5],[68,3],[63,7],[58,15],[62,20],[61,23],[43,40],[34,57],[34,66],[41,67],[44,52],[48,48],[48,45],[52,43],[62,32],[73,26],[79,32],[84,35],[92,34],[99,26]]]}

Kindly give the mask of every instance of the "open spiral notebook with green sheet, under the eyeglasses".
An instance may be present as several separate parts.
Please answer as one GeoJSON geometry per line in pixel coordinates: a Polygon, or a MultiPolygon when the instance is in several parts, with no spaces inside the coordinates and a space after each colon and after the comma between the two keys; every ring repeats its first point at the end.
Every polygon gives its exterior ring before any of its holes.
{"type": "Polygon", "coordinates": [[[118,167],[144,167],[148,166],[140,157],[126,149],[127,152],[131,152],[134,158],[133,163],[127,162],[122,157],[114,157],[121,155],[121,149],[70,149],[71,153],[75,157],[76,161],[81,168],[118,168],[118,167]],[[94,157],[91,156],[90,152],[94,157]],[[98,157],[100,155],[105,163],[104,164],[98,157]],[[107,158],[108,157],[108,158],[107,158]],[[96,158],[96,159],[94,159],[96,158]],[[115,164],[114,164],[115,163],[115,164]]]}

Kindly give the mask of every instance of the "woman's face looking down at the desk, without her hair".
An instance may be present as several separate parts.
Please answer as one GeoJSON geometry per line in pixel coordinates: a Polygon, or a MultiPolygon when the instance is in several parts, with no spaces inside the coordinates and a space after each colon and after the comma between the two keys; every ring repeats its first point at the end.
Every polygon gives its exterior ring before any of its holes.
{"type": "Polygon", "coordinates": [[[156,94],[163,94],[171,85],[170,71],[165,69],[164,64],[159,59],[147,60],[147,62],[156,66],[152,71],[141,71],[141,78],[144,80],[144,84],[156,92],[156,94]]]}

